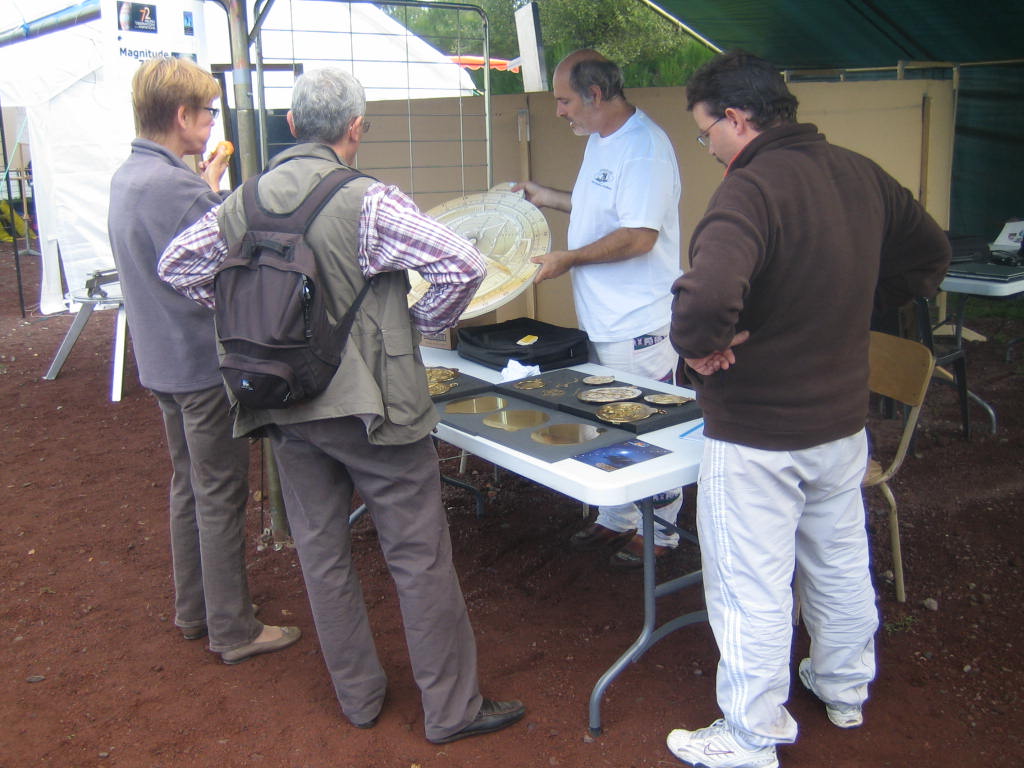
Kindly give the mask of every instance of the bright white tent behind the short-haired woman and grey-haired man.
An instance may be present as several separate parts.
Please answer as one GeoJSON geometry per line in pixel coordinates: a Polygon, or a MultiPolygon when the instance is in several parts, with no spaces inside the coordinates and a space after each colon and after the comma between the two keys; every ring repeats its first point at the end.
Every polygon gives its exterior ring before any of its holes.
{"type": "MultiPolygon", "coordinates": [[[[4,0],[0,32],[69,5],[68,0],[4,0]]],[[[106,238],[109,186],[134,136],[131,69],[148,56],[183,50],[180,25],[173,29],[173,42],[122,32],[118,9],[123,5],[101,0],[98,19],[0,47],[0,99],[5,108],[24,108],[28,123],[44,313],[68,308],[61,267],[74,290],[93,270],[113,266],[106,238]]],[[[180,18],[182,9],[190,27],[188,9],[195,8],[193,51],[203,63],[230,62],[226,18],[218,4],[151,0],[144,5],[169,29],[167,23],[180,18]]],[[[251,24],[253,0],[248,5],[251,24]]],[[[369,3],[278,0],[264,29],[264,60],[296,61],[305,69],[348,67],[371,100],[472,90],[461,68],[369,3]]],[[[287,106],[291,81],[280,73],[267,78],[268,106],[287,106]]]]}

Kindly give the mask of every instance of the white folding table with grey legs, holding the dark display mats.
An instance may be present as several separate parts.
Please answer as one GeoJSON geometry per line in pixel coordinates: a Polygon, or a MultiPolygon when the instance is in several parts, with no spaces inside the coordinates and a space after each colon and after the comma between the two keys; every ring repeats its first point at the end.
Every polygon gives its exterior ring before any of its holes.
{"type": "MultiPolygon", "coordinates": [[[[420,349],[423,361],[427,366],[458,368],[460,373],[487,382],[497,383],[501,379],[498,371],[460,357],[454,351],[431,347],[421,347],[420,349]]],[[[693,396],[692,390],[689,389],[612,371],[593,364],[573,366],[572,370],[586,375],[613,375],[618,381],[641,385],[648,389],[693,396]]],[[[442,410],[441,416],[443,418],[442,410]]],[[[590,732],[594,735],[601,732],[601,696],[618,673],[630,663],[640,658],[647,648],[666,635],[708,618],[707,611],[700,610],[677,616],[658,626],[656,599],[685,587],[698,585],[700,571],[693,571],[663,584],[656,584],[654,580],[654,507],[652,497],[681,485],[696,482],[703,452],[703,436],[702,430],[690,431],[690,429],[699,424],[699,420],[693,420],[638,435],[640,439],[668,449],[672,453],[648,459],[630,467],[623,467],[613,472],[605,472],[574,459],[546,462],[488,440],[486,437],[463,432],[443,422],[437,425],[437,437],[445,442],[586,504],[611,505],[637,502],[640,505],[643,512],[641,532],[644,543],[643,628],[633,644],[601,675],[594,686],[589,709],[590,732]]]]}

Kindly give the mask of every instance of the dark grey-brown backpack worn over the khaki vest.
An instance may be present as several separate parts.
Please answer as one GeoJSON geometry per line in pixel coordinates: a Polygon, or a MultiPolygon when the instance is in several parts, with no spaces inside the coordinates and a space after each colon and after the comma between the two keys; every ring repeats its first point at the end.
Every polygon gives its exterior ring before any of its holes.
{"type": "Polygon", "coordinates": [[[256,176],[242,186],[247,231],[214,276],[220,372],[246,408],[282,409],[324,391],[341,362],[355,312],[370,288],[332,325],[316,258],[306,241],[338,189],[365,174],[339,168],[289,213],[260,205],[256,176]]]}

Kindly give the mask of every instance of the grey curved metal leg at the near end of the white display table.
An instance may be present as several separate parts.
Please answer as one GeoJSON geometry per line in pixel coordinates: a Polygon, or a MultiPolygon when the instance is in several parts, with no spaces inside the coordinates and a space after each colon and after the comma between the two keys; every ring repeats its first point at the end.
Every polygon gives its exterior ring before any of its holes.
{"type": "Polygon", "coordinates": [[[590,694],[590,733],[592,736],[599,736],[602,732],[601,697],[607,687],[611,685],[611,681],[618,677],[618,673],[625,670],[630,663],[639,659],[647,648],[666,635],[691,624],[708,621],[708,611],[696,610],[666,622],[660,627],[657,626],[656,599],[685,587],[700,584],[701,573],[699,570],[695,570],[664,584],[657,584],[654,581],[654,500],[648,498],[638,502],[638,504],[642,512],[641,530],[643,532],[643,628],[626,652],[601,675],[590,694]]]}

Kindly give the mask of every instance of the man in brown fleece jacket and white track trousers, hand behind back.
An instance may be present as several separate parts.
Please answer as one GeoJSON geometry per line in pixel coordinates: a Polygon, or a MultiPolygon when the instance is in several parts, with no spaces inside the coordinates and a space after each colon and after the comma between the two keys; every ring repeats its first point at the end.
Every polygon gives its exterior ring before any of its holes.
{"type": "Polygon", "coordinates": [[[811,636],[800,678],[833,723],[862,722],[878,628],[860,494],[870,316],[933,295],[950,253],[907,189],[796,122],[767,61],[720,54],[686,90],[697,141],[727,166],[672,319],[705,413],[697,528],[724,718],[668,742],[708,768],[774,768],[797,737],[795,574],[811,636]]]}

